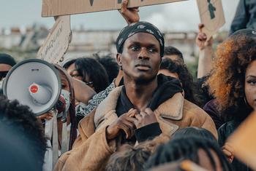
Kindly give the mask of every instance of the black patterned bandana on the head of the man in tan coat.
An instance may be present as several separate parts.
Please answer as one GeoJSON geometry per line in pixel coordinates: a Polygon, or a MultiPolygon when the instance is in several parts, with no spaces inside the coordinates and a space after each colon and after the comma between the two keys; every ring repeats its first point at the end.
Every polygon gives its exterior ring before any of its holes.
{"type": "Polygon", "coordinates": [[[132,23],[131,25],[127,25],[125,28],[121,30],[118,38],[116,39],[117,52],[121,53],[124,46],[124,41],[126,41],[130,36],[139,32],[150,33],[157,39],[157,41],[159,41],[160,56],[163,57],[164,50],[165,50],[164,36],[162,36],[162,33],[159,31],[159,29],[156,26],[144,21],[140,21],[138,23],[132,23]]]}

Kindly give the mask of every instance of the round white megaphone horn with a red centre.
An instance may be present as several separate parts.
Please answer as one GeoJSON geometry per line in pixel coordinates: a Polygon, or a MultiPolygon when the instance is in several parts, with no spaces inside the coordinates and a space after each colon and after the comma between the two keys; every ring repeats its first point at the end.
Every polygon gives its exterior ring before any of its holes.
{"type": "Polygon", "coordinates": [[[23,60],[7,74],[3,91],[39,116],[56,106],[61,93],[59,72],[45,60],[23,60]]]}

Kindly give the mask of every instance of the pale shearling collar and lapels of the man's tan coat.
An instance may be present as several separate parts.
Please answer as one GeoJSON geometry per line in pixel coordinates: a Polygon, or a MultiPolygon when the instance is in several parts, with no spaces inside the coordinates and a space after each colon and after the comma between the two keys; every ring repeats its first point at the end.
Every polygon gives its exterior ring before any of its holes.
{"type": "MultiPolygon", "coordinates": [[[[107,98],[102,101],[97,107],[94,115],[94,125],[96,130],[100,127],[106,127],[118,118],[116,115],[116,105],[118,98],[121,94],[122,87],[116,87],[110,92],[107,98]]],[[[173,98],[166,100],[162,103],[154,113],[157,116],[157,122],[159,122],[161,130],[167,130],[167,134],[178,130],[176,124],[170,124],[165,119],[180,120],[183,116],[184,97],[181,93],[176,93],[173,98]]],[[[164,131],[163,131],[164,132],[164,131]]]]}

